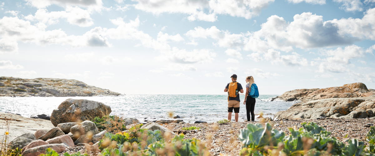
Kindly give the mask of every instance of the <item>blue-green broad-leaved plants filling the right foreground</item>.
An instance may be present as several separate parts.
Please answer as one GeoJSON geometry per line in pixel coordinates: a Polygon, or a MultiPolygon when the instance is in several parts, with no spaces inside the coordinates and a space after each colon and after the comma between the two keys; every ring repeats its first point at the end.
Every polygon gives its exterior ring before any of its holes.
{"type": "MultiPolygon", "coordinates": [[[[266,123],[265,127],[259,123],[249,124],[247,129],[240,131],[239,139],[243,143],[240,155],[374,155],[374,144],[370,144],[365,149],[365,143],[351,139],[347,140],[348,144],[345,145],[336,138],[330,137],[330,132],[314,122],[301,125],[303,128],[298,130],[290,128],[290,135],[285,136],[284,132],[272,129],[269,123],[266,123]]],[[[375,129],[372,129],[368,138],[371,138],[374,132],[375,129]]]]}

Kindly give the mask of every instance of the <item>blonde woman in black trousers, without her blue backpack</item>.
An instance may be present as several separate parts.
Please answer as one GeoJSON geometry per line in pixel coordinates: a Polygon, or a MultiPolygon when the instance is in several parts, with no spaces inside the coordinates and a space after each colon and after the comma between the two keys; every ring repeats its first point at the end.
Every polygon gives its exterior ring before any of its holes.
{"type": "Polygon", "coordinates": [[[248,121],[250,121],[250,113],[251,113],[251,120],[254,121],[255,120],[255,114],[254,114],[255,98],[252,98],[249,95],[249,93],[251,92],[251,86],[254,83],[254,77],[253,76],[246,77],[246,83],[247,83],[246,93],[245,93],[246,96],[245,96],[245,100],[243,101],[243,104],[246,104],[246,117],[248,118],[248,121]]]}

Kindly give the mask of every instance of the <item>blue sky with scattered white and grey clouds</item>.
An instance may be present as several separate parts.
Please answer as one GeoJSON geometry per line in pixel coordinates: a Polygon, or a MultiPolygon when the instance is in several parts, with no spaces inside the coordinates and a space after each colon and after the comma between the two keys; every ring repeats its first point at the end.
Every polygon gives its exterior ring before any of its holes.
{"type": "Polygon", "coordinates": [[[375,0],[0,0],[0,76],[121,94],[375,89],[375,0]]]}

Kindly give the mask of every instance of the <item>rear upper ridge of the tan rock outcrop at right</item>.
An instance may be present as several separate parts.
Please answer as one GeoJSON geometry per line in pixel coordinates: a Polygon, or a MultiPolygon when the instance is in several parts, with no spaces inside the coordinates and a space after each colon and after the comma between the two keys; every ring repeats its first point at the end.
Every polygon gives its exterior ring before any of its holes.
{"type": "Polygon", "coordinates": [[[320,100],[327,98],[355,98],[375,97],[374,91],[369,91],[363,83],[351,83],[341,87],[330,87],[324,89],[296,89],[285,92],[273,98],[271,101],[294,101],[294,100],[320,100]]]}

